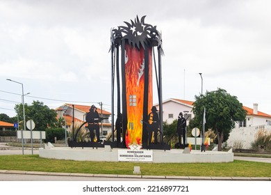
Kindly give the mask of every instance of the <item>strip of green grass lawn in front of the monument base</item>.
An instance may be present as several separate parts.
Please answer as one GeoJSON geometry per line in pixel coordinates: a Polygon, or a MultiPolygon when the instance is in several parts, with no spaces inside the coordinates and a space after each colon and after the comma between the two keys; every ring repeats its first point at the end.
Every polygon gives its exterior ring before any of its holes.
{"type": "Polygon", "coordinates": [[[227,163],[88,162],[45,159],[39,155],[0,155],[1,170],[132,175],[140,166],[145,176],[271,177],[271,164],[234,160],[227,163]]]}

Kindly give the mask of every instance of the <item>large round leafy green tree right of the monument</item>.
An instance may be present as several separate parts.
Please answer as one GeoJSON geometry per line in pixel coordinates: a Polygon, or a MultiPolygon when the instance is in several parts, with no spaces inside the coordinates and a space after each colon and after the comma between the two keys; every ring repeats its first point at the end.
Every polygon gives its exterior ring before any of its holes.
{"type": "Polygon", "coordinates": [[[218,150],[222,150],[222,142],[227,141],[229,133],[237,121],[245,120],[247,112],[243,109],[236,96],[231,96],[222,88],[206,92],[205,95],[195,95],[193,104],[195,123],[202,126],[204,108],[206,109],[205,130],[212,129],[217,134],[218,150]]]}

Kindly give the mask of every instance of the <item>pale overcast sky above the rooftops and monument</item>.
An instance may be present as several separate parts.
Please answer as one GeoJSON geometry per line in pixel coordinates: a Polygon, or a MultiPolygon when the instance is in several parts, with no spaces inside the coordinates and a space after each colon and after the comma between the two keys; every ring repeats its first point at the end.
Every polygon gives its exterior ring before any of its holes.
{"type": "Polygon", "coordinates": [[[202,72],[204,93],[224,88],[271,114],[270,10],[268,0],[0,0],[0,114],[22,102],[22,85],[6,79],[24,84],[27,104],[110,111],[110,29],[137,15],[162,33],[163,100],[194,101],[202,72]]]}

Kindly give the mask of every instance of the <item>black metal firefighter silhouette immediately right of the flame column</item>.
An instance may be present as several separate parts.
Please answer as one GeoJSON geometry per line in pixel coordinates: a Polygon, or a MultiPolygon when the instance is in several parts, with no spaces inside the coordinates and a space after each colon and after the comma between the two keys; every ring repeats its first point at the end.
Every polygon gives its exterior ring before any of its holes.
{"type": "Polygon", "coordinates": [[[159,116],[157,114],[156,107],[151,108],[151,113],[148,115],[148,139],[149,139],[149,145],[153,142],[152,139],[154,139],[154,144],[157,144],[157,137],[158,137],[158,130],[159,130],[159,116]]]}

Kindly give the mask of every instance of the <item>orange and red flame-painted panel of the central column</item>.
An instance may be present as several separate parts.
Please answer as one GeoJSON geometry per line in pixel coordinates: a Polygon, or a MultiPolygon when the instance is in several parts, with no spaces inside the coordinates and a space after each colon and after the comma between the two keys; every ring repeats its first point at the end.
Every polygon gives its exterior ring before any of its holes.
{"type": "MultiPolygon", "coordinates": [[[[126,77],[126,107],[127,132],[126,146],[142,143],[142,120],[145,84],[145,50],[137,49],[131,45],[125,46],[125,77],[126,77]]],[[[152,88],[152,56],[149,49],[149,93],[148,111],[153,104],[152,88]]]]}

